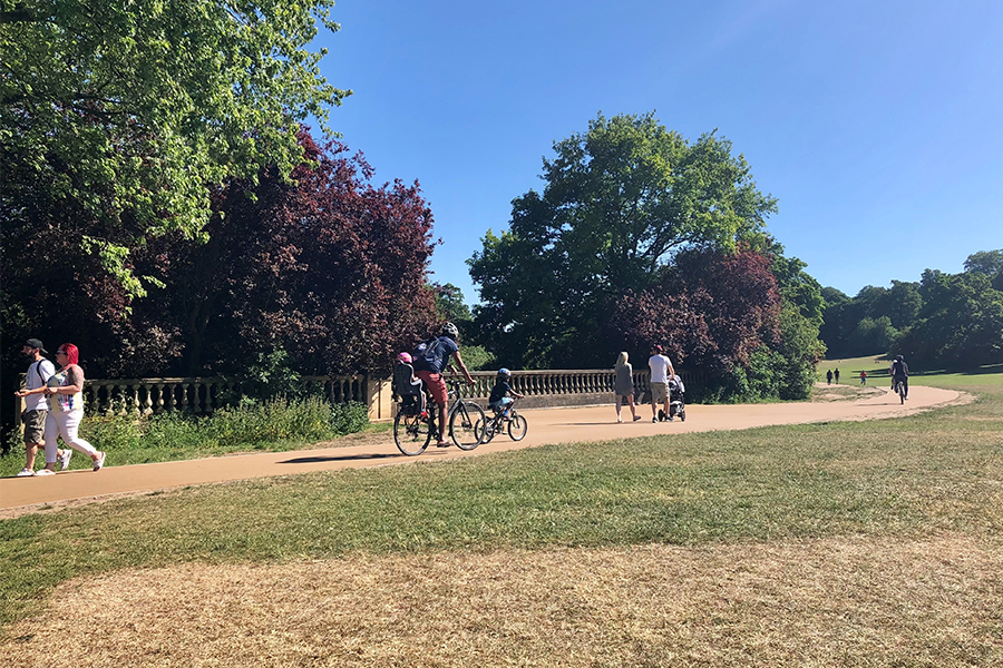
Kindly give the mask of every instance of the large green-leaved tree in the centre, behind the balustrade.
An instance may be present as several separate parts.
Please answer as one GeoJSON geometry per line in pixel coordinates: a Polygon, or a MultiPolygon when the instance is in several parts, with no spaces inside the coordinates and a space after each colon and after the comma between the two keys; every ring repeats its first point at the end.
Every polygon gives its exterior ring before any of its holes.
{"type": "Polygon", "coordinates": [[[690,143],[652,114],[600,115],[554,153],[543,193],[513,200],[509,229],[469,261],[479,336],[510,365],[607,366],[619,295],[654,285],[680,249],[761,243],[776,212],[730,141],[690,143]]]}

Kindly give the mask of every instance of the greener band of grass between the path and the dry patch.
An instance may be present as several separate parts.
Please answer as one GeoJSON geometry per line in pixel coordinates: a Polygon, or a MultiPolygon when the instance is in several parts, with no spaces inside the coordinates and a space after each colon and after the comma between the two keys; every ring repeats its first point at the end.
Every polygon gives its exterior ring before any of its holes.
{"type": "MultiPolygon", "coordinates": [[[[981,379],[982,380],[982,379],[981,379]]],[[[1003,544],[1003,386],[875,422],[553,445],[191,488],[0,522],[3,623],[75,576],[501,547],[952,532],[1003,544]]]]}

